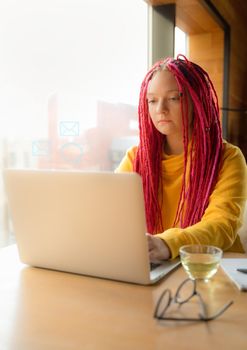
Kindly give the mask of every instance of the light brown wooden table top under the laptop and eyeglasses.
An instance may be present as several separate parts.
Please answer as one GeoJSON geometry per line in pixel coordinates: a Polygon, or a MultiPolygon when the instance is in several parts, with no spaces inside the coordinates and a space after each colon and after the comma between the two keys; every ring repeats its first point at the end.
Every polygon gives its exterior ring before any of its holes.
{"type": "Polygon", "coordinates": [[[220,318],[208,323],[153,318],[162,290],[174,291],[185,278],[179,267],[155,286],[139,286],[27,267],[15,246],[4,248],[0,350],[246,350],[247,293],[221,268],[202,291],[212,307],[234,300],[220,318]]]}

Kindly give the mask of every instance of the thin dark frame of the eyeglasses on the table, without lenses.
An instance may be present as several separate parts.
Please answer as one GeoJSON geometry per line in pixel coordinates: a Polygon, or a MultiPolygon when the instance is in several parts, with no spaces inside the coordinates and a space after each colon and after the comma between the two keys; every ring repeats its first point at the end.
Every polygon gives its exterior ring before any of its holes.
{"type": "Polygon", "coordinates": [[[207,314],[206,304],[205,304],[201,294],[196,290],[196,280],[192,280],[190,278],[187,278],[178,286],[174,297],[172,296],[171,290],[168,288],[166,288],[162,292],[162,294],[160,295],[158,302],[156,304],[153,316],[154,316],[154,318],[156,318],[158,320],[164,320],[164,321],[194,321],[194,322],[203,321],[203,322],[208,322],[208,321],[215,320],[216,318],[221,316],[232,304],[233,304],[233,300],[227,302],[218,312],[216,312],[212,316],[210,316],[210,317],[205,316],[207,314]],[[191,283],[193,283],[192,293],[186,299],[179,300],[179,292],[181,291],[182,287],[186,283],[188,283],[189,281],[191,283]],[[160,306],[160,304],[161,304],[161,302],[166,294],[168,294],[168,302],[165,305],[165,307],[163,308],[163,311],[158,314],[159,306],[160,306]],[[200,301],[202,313],[199,313],[199,315],[198,315],[199,318],[195,318],[195,317],[181,317],[181,318],[179,318],[179,317],[169,317],[169,316],[164,317],[167,309],[170,307],[172,302],[175,302],[179,306],[182,306],[183,304],[187,303],[190,299],[192,299],[194,296],[197,296],[199,301],[200,301]]]}

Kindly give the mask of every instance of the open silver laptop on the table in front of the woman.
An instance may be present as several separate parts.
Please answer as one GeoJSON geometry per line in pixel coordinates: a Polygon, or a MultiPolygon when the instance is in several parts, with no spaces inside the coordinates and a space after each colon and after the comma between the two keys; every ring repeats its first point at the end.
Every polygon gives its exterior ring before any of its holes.
{"type": "Polygon", "coordinates": [[[179,259],[150,271],[142,182],[135,173],[4,171],[25,264],[152,284],[179,259]]]}

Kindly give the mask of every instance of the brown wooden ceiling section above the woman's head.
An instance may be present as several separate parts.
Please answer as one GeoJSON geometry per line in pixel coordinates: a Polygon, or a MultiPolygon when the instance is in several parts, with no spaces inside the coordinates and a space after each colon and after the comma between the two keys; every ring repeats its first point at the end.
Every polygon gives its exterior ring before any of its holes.
{"type": "Polygon", "coordinates": [[[176,4],[176,26],[187,34],[199,34],[219,30],[218,23],[200,0],[145,0],[153,6],[176,4]]]}

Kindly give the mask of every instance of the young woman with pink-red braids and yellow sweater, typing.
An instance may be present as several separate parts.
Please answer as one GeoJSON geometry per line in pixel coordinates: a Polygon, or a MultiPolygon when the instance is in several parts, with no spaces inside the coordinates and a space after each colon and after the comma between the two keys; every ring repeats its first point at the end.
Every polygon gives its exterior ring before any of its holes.
{"type": "Polygon", "coordinates": [[[140,143],[117,172],[143,181],[149,255],[175,258],[186,244],[244,252],[237,235],[246,202],[246,162],[222,140],[208,74],[179,55],[147,73],[139,100],[140,143]]]}

